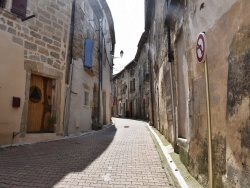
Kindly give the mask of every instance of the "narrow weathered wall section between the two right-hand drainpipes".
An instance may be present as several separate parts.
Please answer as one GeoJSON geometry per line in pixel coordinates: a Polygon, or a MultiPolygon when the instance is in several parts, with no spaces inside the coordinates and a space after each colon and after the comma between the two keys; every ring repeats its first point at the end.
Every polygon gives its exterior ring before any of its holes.
{"type": "MultiPolygon", "coordinates": [[[[154,126],[169,141],[173,142],[167,30],[164,25],[166,10],[162,7],[166,7],[164,0],[155,2],[155,11],[154,16],[151,17],[150,28],[150,57],[154,82],[154,126]]],[[[151,106],[151,101],[149,103],[151,106]]]]}

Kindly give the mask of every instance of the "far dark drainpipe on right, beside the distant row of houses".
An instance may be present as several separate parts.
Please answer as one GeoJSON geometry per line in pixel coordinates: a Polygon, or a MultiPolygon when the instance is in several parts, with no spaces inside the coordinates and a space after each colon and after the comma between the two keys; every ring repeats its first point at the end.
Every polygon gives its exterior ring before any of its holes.
{"type": "Polygon", "coordinates": [[[149,60],[149,72],[150,72],[150,94],[151,94],[151,109],[152,109],[152,122],[151,126],[154,125],[154,91],[153,91],[153,71],[152,71],[152,61],[150,53],[150,31],[148,34],[148,60],[149,60]]]}

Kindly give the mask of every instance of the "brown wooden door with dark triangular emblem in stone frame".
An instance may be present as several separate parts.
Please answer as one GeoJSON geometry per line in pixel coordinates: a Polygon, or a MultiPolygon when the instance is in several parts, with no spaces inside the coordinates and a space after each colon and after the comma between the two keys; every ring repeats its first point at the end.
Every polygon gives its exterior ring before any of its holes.
{"type": "Polygon", "coordinates": [[[28,108],[28,133],[53,132],[51,125],[51,97],[52,79],[31,75],[29,108],[28,108]]]}

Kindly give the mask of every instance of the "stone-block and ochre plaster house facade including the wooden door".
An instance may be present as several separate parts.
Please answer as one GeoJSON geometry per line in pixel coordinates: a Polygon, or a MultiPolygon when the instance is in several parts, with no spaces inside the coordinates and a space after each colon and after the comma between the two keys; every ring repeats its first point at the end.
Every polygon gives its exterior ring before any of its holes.
{"type": "Polygon", "coordinates": [[[1,1],[0,145],[63,134],[71,1],[1,1]]]}

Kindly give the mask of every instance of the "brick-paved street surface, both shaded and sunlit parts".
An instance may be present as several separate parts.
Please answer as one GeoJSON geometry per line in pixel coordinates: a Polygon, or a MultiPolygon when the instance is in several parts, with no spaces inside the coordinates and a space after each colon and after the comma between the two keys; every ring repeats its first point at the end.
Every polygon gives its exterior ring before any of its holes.
{"type": "Polygon", "coordinates": [[[0,149],[0,187],[172,187],[145,123],[0,149]]]}

